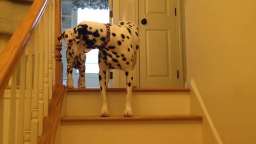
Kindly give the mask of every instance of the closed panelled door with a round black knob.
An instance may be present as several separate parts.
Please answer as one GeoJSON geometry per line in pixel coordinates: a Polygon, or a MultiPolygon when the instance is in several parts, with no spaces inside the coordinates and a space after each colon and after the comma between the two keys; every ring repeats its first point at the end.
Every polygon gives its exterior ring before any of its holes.
{"type": "Polygon", "coordinates": [[[140,87],[178,87],[174,10],[174,0],[139,0],[140,87]]]}

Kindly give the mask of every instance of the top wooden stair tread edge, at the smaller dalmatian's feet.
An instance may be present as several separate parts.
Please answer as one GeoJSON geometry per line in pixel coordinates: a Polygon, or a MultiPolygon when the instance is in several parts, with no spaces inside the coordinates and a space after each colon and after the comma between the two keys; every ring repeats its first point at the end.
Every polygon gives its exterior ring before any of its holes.
{"type": "MultiPolygon", "coordinates": [[[[99,88],[67,89],[68,92],[100,92],[99,88]]],[[[190,92],[189,88],[133,88],[133,92],[190,92]]],[[[107,92],[126,92],[126,88],[108,88],[107,92]]]]}

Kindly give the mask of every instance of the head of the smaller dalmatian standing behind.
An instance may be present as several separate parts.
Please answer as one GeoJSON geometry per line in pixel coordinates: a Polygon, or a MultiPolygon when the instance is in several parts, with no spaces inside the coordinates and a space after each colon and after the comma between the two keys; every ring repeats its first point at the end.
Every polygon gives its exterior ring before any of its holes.
{"type": "Polygon", "coordinates": [[[63,31],[59,36],[58,36],[58,40],[61,43],[62,39],[65,40],[65,42],[67,43],[68,46],[72,46],[73,42],[76,42],[76,36],[74,33],[74,29],[69,28],[65,31],[63,31]]]}

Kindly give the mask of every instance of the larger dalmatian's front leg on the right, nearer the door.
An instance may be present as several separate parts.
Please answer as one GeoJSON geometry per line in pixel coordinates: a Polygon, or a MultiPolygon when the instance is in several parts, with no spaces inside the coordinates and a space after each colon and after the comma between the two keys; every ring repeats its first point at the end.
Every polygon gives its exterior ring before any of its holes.
{"type": "Polygon", "coordinates": [[[131,107],[131,102],[132,102],[132,80],[133,80],[132,73],[133,73],[132,70],[125,72],[127,94],[126,94],[126,105],[125,105],[125,109],[124,109],[124,116],[132,116],[132,107],[131,107]]]}

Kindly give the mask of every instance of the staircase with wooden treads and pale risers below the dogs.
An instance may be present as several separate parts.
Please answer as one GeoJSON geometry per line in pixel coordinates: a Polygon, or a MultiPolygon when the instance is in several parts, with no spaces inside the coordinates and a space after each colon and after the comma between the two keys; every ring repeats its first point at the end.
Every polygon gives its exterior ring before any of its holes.
{"type": "Polygon", "coordinates": [[[189,89],[133,89],[133,117],[123,117],[126,89],[108,89],[109,117],[100,117],[99,89],[68,89],[56,144],[202,143],[202,116],[190,114],[189,89]]]}

